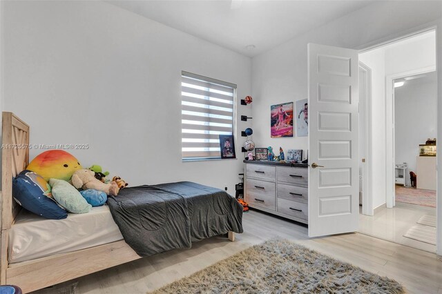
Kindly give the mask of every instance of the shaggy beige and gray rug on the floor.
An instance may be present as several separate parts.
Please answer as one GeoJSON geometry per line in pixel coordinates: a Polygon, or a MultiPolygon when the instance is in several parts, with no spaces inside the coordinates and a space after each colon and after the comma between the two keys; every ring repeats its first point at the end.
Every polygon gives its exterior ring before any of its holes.
{"type": "Polygon", "coordinates": [[[404,293],[398,282],[273,239],[173,282],[159,293],[404,293]]]}

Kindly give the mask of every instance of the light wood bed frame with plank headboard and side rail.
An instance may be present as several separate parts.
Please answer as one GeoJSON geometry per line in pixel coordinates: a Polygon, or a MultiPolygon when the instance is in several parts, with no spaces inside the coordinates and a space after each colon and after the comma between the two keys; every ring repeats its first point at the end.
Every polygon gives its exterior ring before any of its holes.
{"type": "MultiPolygon", "coordinates": [[[[8,232],[21,207],[12,200],[12,177],[28,166],[29,126],[12,112],[3,112],[1,165],[0,284],[14,284],[23,293],[59,284],[141,258],[124,240],[27,262],[8,263],[8,232]]],[[[235,233],[228,233],[235,240],[235,233]]]]}

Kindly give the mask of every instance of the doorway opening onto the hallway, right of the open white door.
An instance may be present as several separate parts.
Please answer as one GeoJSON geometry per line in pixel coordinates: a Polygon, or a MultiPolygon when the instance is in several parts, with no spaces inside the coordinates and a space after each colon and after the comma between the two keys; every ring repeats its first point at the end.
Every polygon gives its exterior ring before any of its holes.
{"type": "MultiPolygon", "coordinates": [[[[436,137],[435,31],[428,30],[362,52],[359,59],[369,68],[372,75],[371,107],[360,106],[363,112],[372,110],[369,115],[369,119],[372,120],[369,122],[372,128],[369,134],[372,137],[365,135],[362,140],[368,140],[366,145],[372,147],[372,156],[365,154],[369,161],[368,166],[372,167],[368,173],[372,176],[372,184],[369,185],[372,190],[367,191],[364,185],[367,175],[364,177],[361,174],[362,208],[359,233],[435,252],[436,208],[432,207],[432,203],[436,206],[436,188],[434,190],[409,188],[410,171],[418,174],[416,165],[419,160],[419,145],[425,144],[430,137],[430,139],[436,137]],[[434,79],[434,83],[430,82],[431,79],[434,79]],[[419,107],[419,99],[423,99],[421,84],[431,83],[434,85],[432,88],[434,105],[425,104],[425,107],[419,107]],[[420,90],[415,89],[419,87],[420,90]],[[419,115],[419,110],[425,111],[427,107],[430,109],[428,111],[434,112],[434,116],[422,113],[419,115]],[[421,124],[430,117],[434,123],[431,132],[421,124]],[[416,141],[420,143],[416,144],[416,141]]],[[[360,113],[360,116],[364,117],[364,113],[360,113]]],[[[363,155],[361,153],[361,166],[365,159],[363,155]]],[[[436,157],[432,159],[425,157],[425,159],[435,162],[436,157]]],[[[364,170],[361,166],[360,170],[364,170]]],[[[432,169],[429,164],[424,166],[432,169]]],[[[421,178],[423,180],[421,184],[425,184],[425,180],[429,177],[422,171],[419,173],[421,176],[417,175],[417,178],[421,178]]],[[[435,166],[432,170],[433,176],[435,181],[435,166]]]]}

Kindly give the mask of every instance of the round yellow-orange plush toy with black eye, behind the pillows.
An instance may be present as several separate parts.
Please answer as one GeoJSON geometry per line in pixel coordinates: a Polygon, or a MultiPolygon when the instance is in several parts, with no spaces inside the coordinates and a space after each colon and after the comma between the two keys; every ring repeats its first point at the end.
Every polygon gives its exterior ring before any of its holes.
{"type": "Polygon", "coordinates": [[[79,161],[66,151],[48,150],[37,155],[26,169],[41,175],[46,181],[50,178],[69,181],[75,170],[81,168],[79,161]]]}

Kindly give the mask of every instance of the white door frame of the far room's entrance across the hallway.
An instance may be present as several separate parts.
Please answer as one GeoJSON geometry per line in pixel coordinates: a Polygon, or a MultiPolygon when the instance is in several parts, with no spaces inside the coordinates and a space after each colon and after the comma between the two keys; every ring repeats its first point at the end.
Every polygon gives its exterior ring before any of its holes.
{"type": "Polygon", "coordinates": [[[436,71],[436,66],[427,66],[425,68],[387,75],[385,78],[385,204],[387,208],[393,208],[396,205],[394,195],[396,189],[394,186],[394,80],[434,71],[436,71]],[[391,130],[391,132],[387,130],[391,130]]]}

